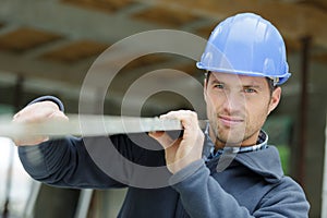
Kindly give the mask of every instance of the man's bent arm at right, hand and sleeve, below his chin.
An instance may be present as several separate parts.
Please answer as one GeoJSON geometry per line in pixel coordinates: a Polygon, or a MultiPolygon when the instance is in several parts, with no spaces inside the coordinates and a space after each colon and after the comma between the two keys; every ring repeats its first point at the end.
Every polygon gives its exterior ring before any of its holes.
{"type": "Polygon", "coordinates": [[[237,198],[210,175],[209,169],[201,159],[204,141],[196,114],[174,111],[164,118],[180,119],[184,128],[182,138],[175,142],[165,133],[150,135],[165,147],[166,160],[170,165],[168,168],[173,173],[170,185],[180,193],[183,206],[191,217],[307,217],[308,204],[305,196],[291,182],[274,187],[251,215],[246,207],[240,206],[237,198]]]}

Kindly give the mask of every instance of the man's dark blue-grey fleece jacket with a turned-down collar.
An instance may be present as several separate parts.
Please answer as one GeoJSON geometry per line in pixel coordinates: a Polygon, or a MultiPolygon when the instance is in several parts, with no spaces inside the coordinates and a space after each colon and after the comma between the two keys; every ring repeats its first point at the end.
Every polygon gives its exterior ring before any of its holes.
{"type": "MultiPolygon", "coordinates": [[[[53,100],[63,108],[56,98],[44,99],[53,100]]],[[[305,194],[298,183],[283,174],[274,146],[237,155],[227,153],[207,162],[197,160],[170,174],[168,170],[162,171],[162,149],[137,146],[136,137],[137,134],[132,140],[128,135],[113,135],[109,137],[109,146],[112,145],[123,159],[160,169],[160,177],[167,181],[157,187],[137,185],[146,184],[149,175],[135,172],[136,168],[125,162],[118,162],[112,154],[106,154],[106,165],[111,166],[109,171],[101,168],[101,162],[94,161],[95,156],[89,155],[87,145],[101,153],[108,137],[53,140],[33,147],[20,147],[19,154],[33,178],[51,185],[75,189],[128,186],[119,217],[308,217],[305,194]],[[112,169],[123,179],[111,173],[112,169]]],[[[208,143],[206,137],[204,146],[208,143]]]]}

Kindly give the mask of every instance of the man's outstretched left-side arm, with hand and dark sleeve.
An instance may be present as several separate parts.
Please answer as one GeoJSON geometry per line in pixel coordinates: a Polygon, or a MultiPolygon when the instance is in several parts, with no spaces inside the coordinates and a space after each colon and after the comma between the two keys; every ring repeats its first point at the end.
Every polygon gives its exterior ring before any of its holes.
{"type": "MultiPolygon", "coordinates": [[[[38,98],[14,116],[14,122],[37,122],[48,118],[66,119],[61,101],[38,98]]],[[[92,138],[95,142],[104,137],[92,138]]],[[[49,141],[47,136],[15,140],[25,170],[36,180],[70,187],[123,186],[102,172],[89,156],[82,138],[49,141]]],[[[117,144],[119,144],[117,140],[117,144]]]]}

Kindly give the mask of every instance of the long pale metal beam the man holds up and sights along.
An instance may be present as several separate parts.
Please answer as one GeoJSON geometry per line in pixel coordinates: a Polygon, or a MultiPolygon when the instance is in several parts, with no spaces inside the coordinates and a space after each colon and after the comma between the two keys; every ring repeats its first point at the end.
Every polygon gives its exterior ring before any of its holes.
{"type": "MultiPolygon", "coordinates": [[[[28,138],[47,135],[50,137],[99,136],[128,133],[145,133],[153,131],[183,130],[179,120],[159,118],[68,114],[69,121],[48,119],[37,123],[12,122],[12,117],[1,117],[0,135],[11,138],[28,138]]],[[[201,129],[206,126],[206,120],[199,120],[201,129]]]]}

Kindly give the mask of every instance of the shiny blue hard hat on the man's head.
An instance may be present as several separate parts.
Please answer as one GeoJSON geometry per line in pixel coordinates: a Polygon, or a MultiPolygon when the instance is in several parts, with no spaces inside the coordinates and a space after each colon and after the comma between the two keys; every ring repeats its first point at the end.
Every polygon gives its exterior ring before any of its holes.
{"type": "Polygon", "coordinates": [[[253,13],[221,22],[211,33],[196,66],[213,72],[265,76],[276,85],[289,77],[286,46],[278,29],[253,13]]]}

